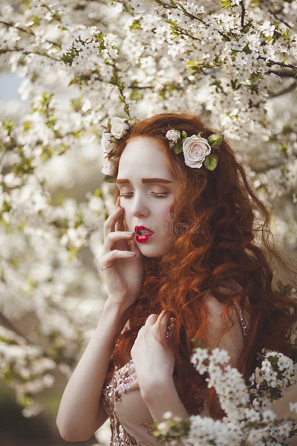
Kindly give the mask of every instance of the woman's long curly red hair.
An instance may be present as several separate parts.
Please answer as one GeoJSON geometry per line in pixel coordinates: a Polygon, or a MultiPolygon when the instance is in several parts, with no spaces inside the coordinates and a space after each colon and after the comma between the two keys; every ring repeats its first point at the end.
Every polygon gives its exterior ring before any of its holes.
{"type": "MultiPolygon", "coordinates": [[[[194,114],[160,113],[135,123],[118,147],[120,156],[127,142],[136,136],[156,138],[160,143],[169,169],[178,180],[171,207],[176,230],[169,252],[157,258],[145,257],[143,289],[131,306],[106,376],[111,377],[115,365],[120,368],[126,363],[149,314],[168,310],[176,318],[171,336],[180,398],[190,414],[198,414],[206,399],[211,416],[218,418],[224,413],[215,392],[207,391],[205,376],[199,376],[190,363],[194,347],[191,339],[196,337],[203,344],[206,339],[208,309],[203,297],[210,292],[223,303],[227,316],[234,301],[248,313],[249,331],[237,364],[247,381],[256,354],[263,347],[290,353],[297,303],[288,292],[273,289],[272,281],[282,279],[287,283],[289,279],[288,283],[297,287],[296,269],[289,267],[290,262],[294,265],[293,260],[288,262],[275,246],[269,211],[248,184],[244,167],[228,141],[224,139],[219,148],[211,149],[219,157],[214,170],[191,168],[185,164],[183,153],[175,154],[169,148],[165,135],[170,128],[184,130],[188,136],[202,132],[204,138],[219,133],[194,114]],[[228,279],[242,286],[241,293],[219,290],[228,279]]],[[[118,195],[116,187],[114,201],[118,195]]]]}

